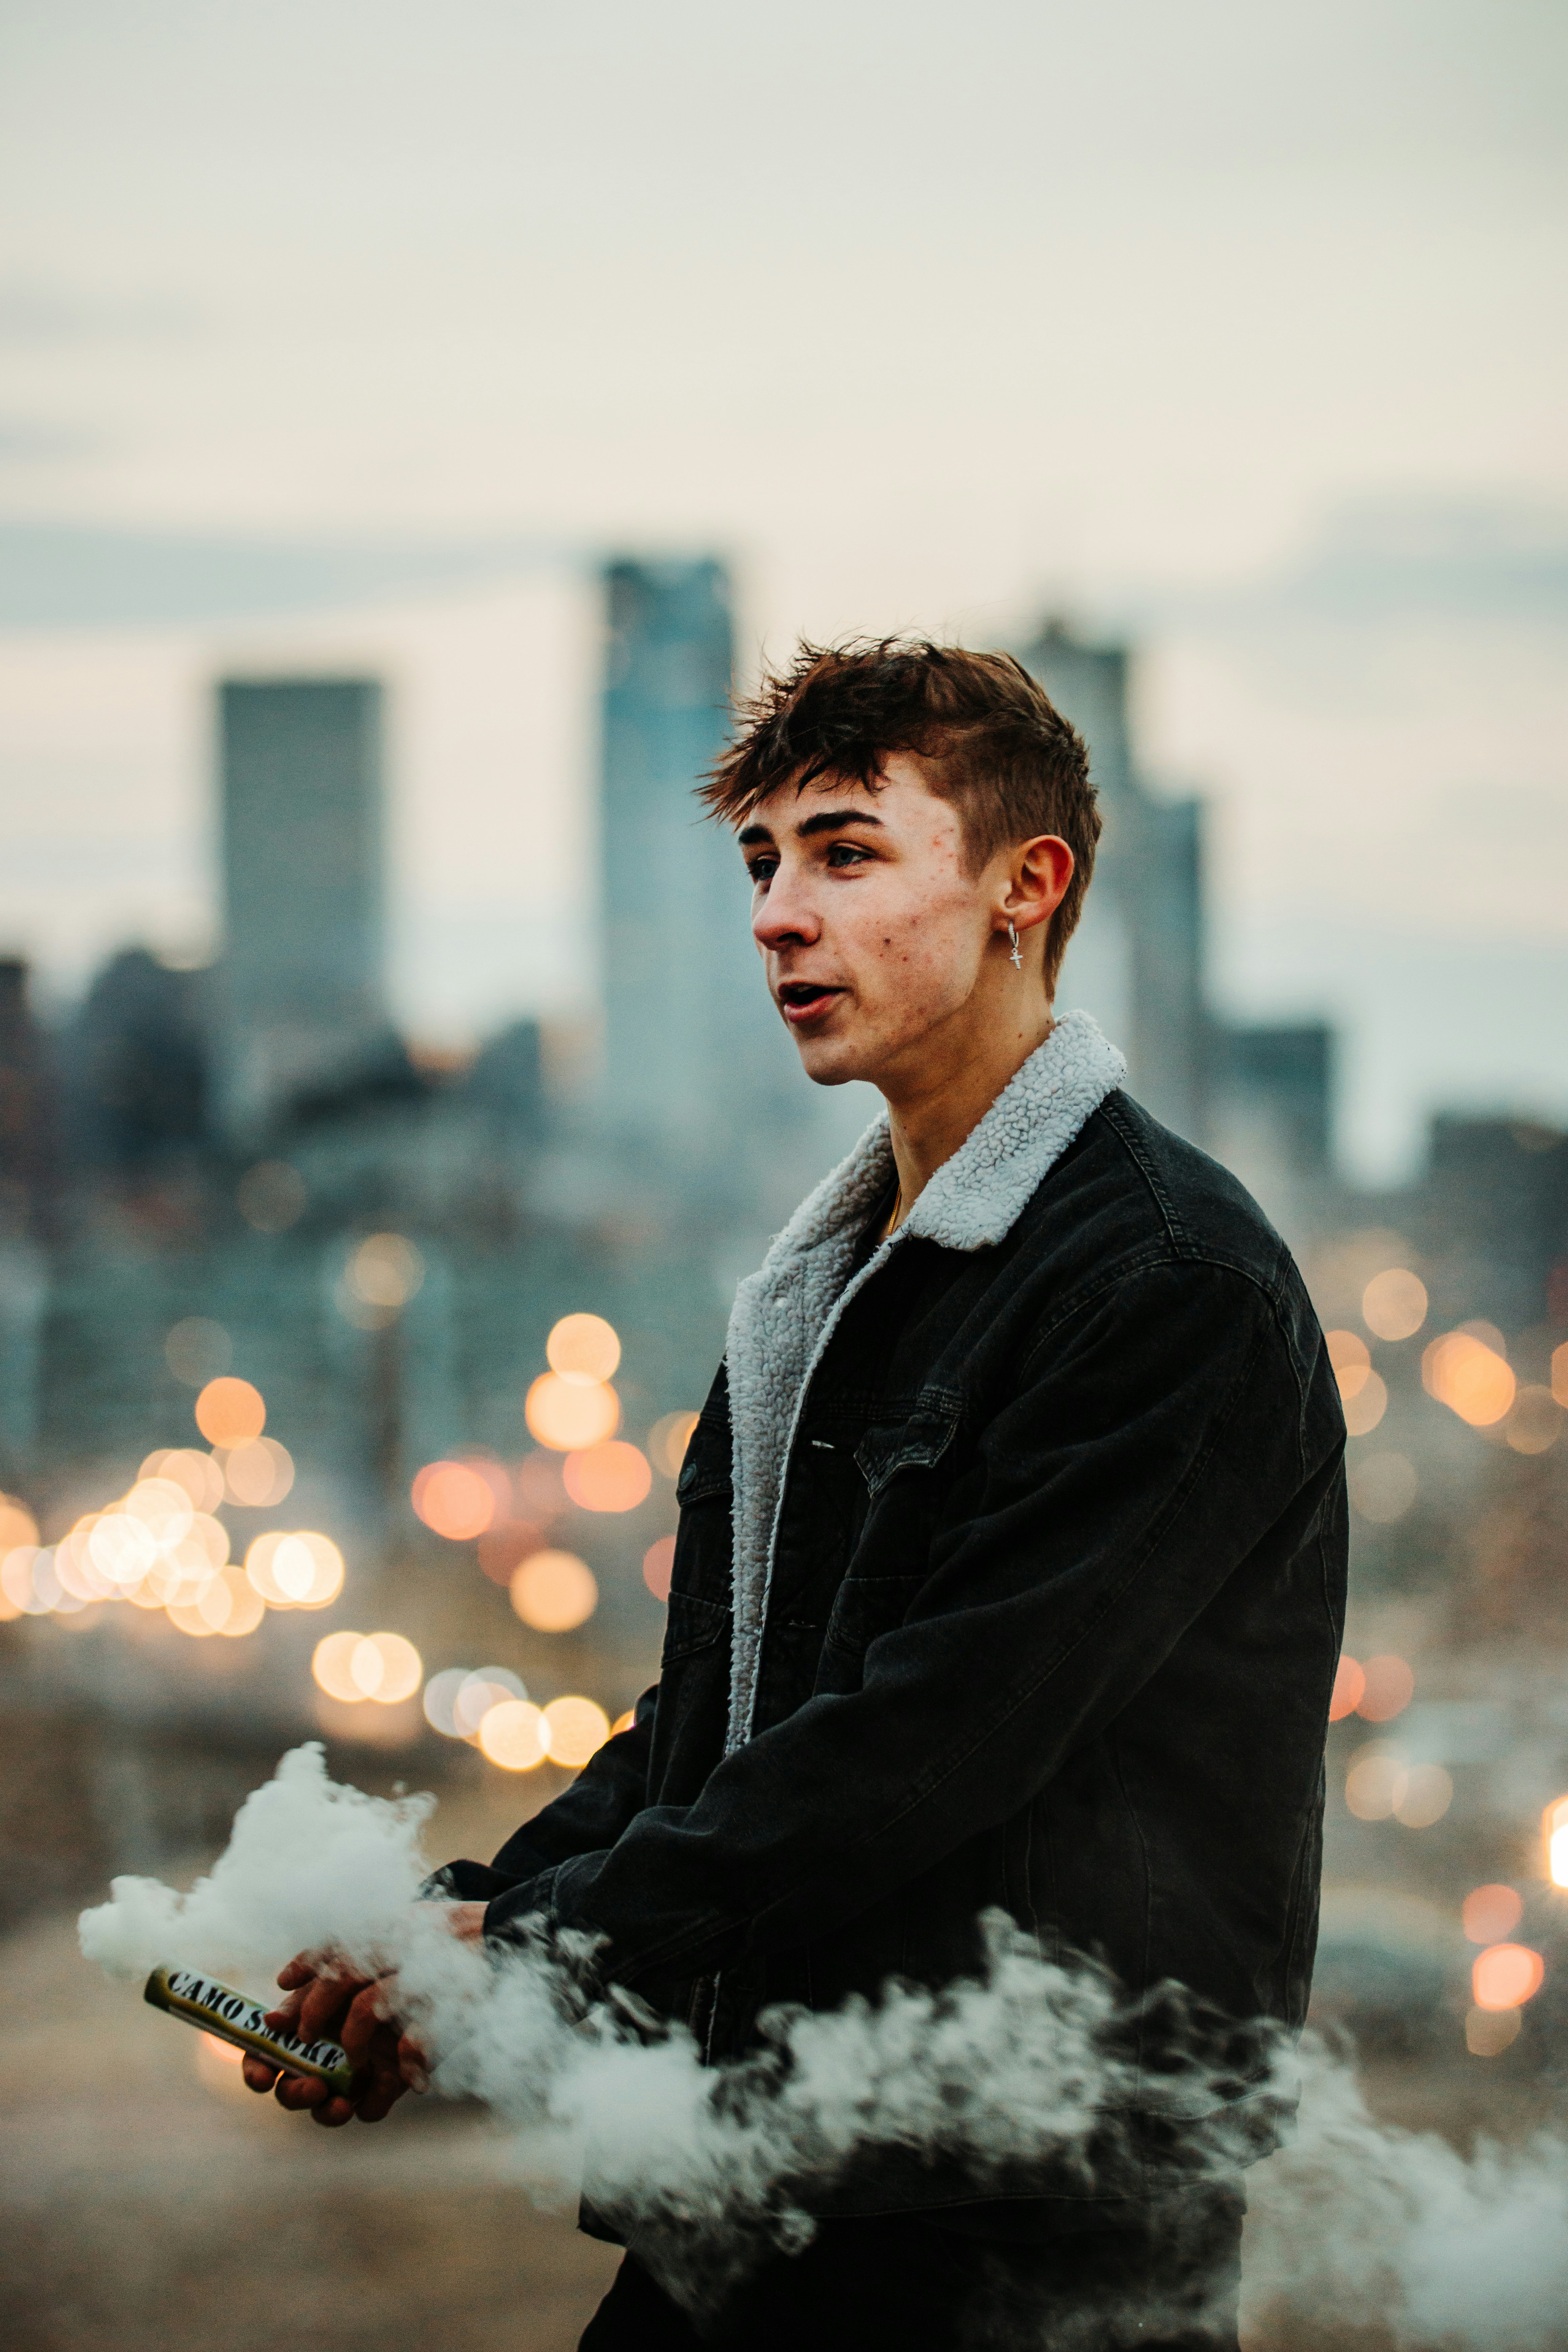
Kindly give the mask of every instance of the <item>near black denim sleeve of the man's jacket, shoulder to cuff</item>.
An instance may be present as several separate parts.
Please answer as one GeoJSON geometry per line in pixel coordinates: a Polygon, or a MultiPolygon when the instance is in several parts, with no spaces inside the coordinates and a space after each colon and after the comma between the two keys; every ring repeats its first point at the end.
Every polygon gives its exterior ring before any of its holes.
{"type": "Polygon", "coordinates": [[[501,1893],[487,1936],[543,1915],[604,1938],[614,1980],[656,1987],[832,1933],[1027,1802],[1276,1522],[1316,1517],[1342,1421],[1321,1383],[1302,1392],[1246,1277],[1145,1268],[1034,1355],[926,1529],[912,1566],[929,1573],[870,1642],[860,1689],[764,1729],[696,1804],[649,1806],[501,1893]]]}

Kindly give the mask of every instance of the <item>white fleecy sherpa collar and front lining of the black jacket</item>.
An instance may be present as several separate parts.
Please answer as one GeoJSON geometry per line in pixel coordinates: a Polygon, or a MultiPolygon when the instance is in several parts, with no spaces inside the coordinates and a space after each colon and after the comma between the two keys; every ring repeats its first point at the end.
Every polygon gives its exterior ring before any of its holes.
{"type": "Polygon", "coordinates": [[[886,1110],[849,1160],[806,1195],[729,1317],[733,1432],[733,1637],[729,1743],[750,1738],[757,1658],[773,1573],[783,1475],[811,1374],[856,1291],[905,1240],[994,1249],[1091,1110],[1126,1077],[1126,1061],[1088,1014],[1063,1014],[973,1134],[919,1195],[898,1232],[849,1282],[865,1218],[893,1176],[886,1110]]]}

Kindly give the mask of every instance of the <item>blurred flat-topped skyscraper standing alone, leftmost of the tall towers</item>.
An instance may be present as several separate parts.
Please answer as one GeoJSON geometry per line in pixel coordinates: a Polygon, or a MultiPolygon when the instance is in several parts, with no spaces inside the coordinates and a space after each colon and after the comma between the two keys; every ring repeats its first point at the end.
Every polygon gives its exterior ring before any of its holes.
{"type": "Polygon", "coordinates": [[[226,680],[219,1120],[261,1129],[383,1049],[381,687],[226,680]]]}

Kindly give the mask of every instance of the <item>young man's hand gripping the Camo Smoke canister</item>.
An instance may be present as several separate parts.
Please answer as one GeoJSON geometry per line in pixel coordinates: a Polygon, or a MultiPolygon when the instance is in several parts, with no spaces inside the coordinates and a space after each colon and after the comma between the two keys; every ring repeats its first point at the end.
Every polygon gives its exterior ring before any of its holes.
{"type": "MultiPolygon", "coordinates": [[[[482,1903],[442,1903],[444,1926],[463,1943],[484,1933],[482,1903]]],[[[355,2114],[378,2124],[404,2091],[423,2091],[430,2074],[418,2042],[397,2027],[397,1978],[357,1976],[331,1952],[299,1952],[277,1971],[284,1999],[268,2011],[268,2025],[301,2042],[341,2042],[355,2070],[350,2091],[334,2091],[315,2074],[289,2074],[266,2058],[247,2056],[242,2065],[252,2091],[275,2089],[277,2105],[306,2112],[317,2124],[336,2129],[355,2114]]]]}

